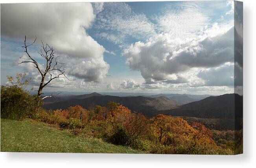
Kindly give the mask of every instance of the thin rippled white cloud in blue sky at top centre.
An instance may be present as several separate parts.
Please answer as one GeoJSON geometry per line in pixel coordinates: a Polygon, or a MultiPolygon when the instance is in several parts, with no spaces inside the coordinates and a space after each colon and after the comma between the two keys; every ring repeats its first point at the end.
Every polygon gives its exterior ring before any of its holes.
{"type": "Polygon", "coordinates": [[[142,39],[156,34],[154,24],[144,14],[134,13],[125,3],[109,2],[103,8],[93,27],[95,30],[104,29],[104,33],[98,33],[101,38],[123,44],[126,38],[142,39]]]}

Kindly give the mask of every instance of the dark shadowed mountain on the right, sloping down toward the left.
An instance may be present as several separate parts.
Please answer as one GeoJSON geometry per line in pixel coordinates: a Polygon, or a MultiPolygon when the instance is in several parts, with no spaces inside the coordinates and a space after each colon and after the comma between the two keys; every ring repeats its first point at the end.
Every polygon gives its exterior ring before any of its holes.
{"type": "Polygon", "coordinates": [[[243,96],[240,96],[238,94],[210,96],[203,100],[183,104],[177,108],[162,110],[159,111],[159,113],[172,116],[187,116],[199,118],[234,119],[235,116],[236,118],[242,118],[243,96]]]}

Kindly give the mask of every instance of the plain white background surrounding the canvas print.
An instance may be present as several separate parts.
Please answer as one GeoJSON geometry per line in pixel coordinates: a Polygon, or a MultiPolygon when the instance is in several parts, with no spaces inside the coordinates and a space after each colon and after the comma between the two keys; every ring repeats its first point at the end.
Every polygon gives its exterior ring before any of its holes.
{"type": "MultiPolygon", "coordinates": [[[[103,0],[92,0],[101,2],[103,0]]],[[[104,2],[109,0],[104,0],[104,2]]],[[[110,0],[118,1],[118,0],[110,0]]],[[[134,1],[134,0],[125,0],[134,1]]],[[[151,1],[151,0],[148,0],[151,1]]],[[[0,3],[21,2],[83,2],[80,0],[0,0],[0,3]]],[[[90,2],[88,0],[87,2],[90,2]]],[[[256,166],[256,110],[255,110],[255,16],[256,1],[243,0],[243,95],[244,95],[244,154],[224,155],[138,155],[138,154],[89,154],[89,153],[0,153],[0,166],[18,168],[244,168],[256,166]]]]}

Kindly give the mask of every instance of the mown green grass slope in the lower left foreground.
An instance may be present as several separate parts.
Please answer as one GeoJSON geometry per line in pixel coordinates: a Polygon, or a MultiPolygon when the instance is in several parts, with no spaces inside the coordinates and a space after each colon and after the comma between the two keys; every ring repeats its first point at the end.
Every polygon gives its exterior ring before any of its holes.
{"type": "Polygon", "coordinates": [[[143,153],[101,139],[82,139],[33,120],[1,119],[1,152],[143,153]]]}

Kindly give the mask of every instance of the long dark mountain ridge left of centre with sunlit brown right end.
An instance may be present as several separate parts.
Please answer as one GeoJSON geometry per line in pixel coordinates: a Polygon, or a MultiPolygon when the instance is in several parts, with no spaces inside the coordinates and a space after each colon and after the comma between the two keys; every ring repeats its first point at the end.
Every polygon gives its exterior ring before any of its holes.
{"type": "Polygon", "coordinates": [[[146,116],[154,116],[159,110],[168,110],[174,108],[176,106],[180,106],[182,103],[177,102],[172,99],[168,99],[167,97],[118,97],[118,96],[109,96],[109,95],[101,95],[99,93],[92,93],[87,95],[79,95],[72,96],[66,98],[63,101],[57,101],[53,103],[45,103],[44,108],[49,110],[56,109],[66,109],[70,106],[76,106],[79,104],[84,108],[88,108],[91,105],[100,105],[107,106],[108,102],[118,102],[123,104],[127,108],[132,111],[137,111],[139,113],[143,113],[146,116]]]}

